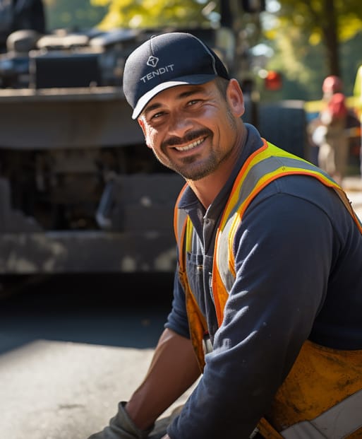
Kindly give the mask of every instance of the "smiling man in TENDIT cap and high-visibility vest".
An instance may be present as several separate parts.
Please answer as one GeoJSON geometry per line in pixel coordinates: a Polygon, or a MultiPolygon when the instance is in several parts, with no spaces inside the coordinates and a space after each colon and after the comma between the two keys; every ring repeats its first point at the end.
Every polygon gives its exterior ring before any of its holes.
{"type": "Polygon", "coordinates": [[[200,370],[164,439],[361,437],[362,227],[342,189],[243,124],[239,83],[193,35],[135,49],[123,88],[186,180],[179,269],[145,380],[91,438],[147,438],[200,370]]]}

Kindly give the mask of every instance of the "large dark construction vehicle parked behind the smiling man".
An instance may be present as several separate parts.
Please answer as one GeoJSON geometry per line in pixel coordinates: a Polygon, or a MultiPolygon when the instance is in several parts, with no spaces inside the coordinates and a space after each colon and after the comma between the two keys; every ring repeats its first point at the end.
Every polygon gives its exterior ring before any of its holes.
{"type": "MultiPolygon", "coordinates": [[[[254,21],[264,8],[236,4],[254,21]]],[[[251,43],[233,23],[188,30],[234,77],[241,72],[246,122],[303,155],[303,105],[259,109],[251,43]]],[[[128,54],[162,31],[9,35],[0,56],[1,274],[174,270],[173,207],[184,182],[145,147],[121,88],[128,54]]]]}

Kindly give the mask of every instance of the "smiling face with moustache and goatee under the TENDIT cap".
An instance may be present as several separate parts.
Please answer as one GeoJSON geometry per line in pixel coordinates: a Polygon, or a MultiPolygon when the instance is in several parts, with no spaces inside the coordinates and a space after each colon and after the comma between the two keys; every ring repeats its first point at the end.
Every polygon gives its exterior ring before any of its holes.
{"type": "Polygon", "coordinates": [[[200,180],[217,170],[236,144],[243,102],[235,110],[234,101],[222,95],[216,81],[176,86],[150,100],[138,122],[163,165],[187,180],[200,180]]]}

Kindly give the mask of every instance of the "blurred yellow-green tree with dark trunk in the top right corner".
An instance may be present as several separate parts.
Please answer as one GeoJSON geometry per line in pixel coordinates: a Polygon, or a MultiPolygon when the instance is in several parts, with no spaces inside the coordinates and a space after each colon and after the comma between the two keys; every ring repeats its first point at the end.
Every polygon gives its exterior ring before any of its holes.
{"type": "Polygon", "coordinates": [[[263,20],[265,44],[274,49],[267,69],[281,71],[284,83],[274,95],[261,88],[262,99],[318,100],[330,74],[341,76],[351,95],[362,64],[361,1],[268,0],[267,6],[274,6],[263,20]],[[335,20],[329,18],[331,11],[324,13],[331,5],[335,20]]]}

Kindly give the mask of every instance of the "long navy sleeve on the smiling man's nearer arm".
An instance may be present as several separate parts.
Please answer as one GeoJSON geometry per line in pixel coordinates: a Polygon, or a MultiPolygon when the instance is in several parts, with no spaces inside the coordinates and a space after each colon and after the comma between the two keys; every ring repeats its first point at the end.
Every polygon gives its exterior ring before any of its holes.
{"type": "Polygon", "coordinates": [[[332,225],[317,205],[277,193],[236,235],[236,281],[214,350],[171,439],[247,439],[289,373],[324,300],[332,225]]]}

